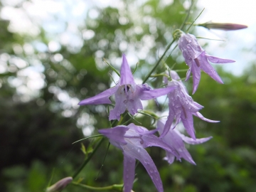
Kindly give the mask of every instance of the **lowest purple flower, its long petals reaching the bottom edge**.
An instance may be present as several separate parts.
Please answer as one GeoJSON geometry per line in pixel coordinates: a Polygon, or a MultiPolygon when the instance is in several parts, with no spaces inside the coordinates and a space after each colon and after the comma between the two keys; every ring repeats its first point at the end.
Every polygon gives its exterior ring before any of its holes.
{"type": "Polygon", "coordinates": [[[144,148],[148,146],[159,146],[170,154],[174,154],[178,159],[179,155],[171,146],[153,135],[156,130],[149,131],[144,127],[129,124],[128,126],[121,125],[112,129],[100,129],[99,132],[108,137],[111,144],[123,151],[124,192],[130,192],[132,190],[136,159],[143,164],[157,190],[160,192],[164,191],[159,171],[157,171],[154,161],[144,148]]]}

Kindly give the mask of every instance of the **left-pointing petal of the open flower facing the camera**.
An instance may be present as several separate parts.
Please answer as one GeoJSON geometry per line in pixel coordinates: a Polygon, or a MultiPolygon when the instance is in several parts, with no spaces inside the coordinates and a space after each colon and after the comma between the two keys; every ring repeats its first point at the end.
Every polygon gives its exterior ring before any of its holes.
{"type": "Polygon", "coordinates": [[[114,94],[118,89],[118,86],[112,87],[108,90],[101,92],[94,97],[82,100],[78,105],[98,105],[98,104],[111,104],[109,97],[114,94]]]}

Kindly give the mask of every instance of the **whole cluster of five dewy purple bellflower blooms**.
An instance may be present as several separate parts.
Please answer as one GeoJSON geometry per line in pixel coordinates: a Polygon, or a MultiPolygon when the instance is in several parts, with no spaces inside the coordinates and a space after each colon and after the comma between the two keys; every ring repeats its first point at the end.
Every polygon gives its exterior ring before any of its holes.
{"type": "MultiPolygon", "coordinates": [[[[233,60],[208,55],[199,46],[196,37],[191,34],[182,33],[178,40],[178,47],[181,49],[185,62],[189,67],[186,80],[188,80],[191,73],[193,75],[193,93],[198,88],[201,70],[210,75],[214,80],[223,83],[209,62],[234,62],[233,60]]],[[[157,190],[160,192],[164,191],[159,172],[151,156],[147,153],[146,147],[158,146],[164,149],[166,151],[164,160],[169,164],[172,164],[175,158],[179,161],[183,158],[191,164],[196,164],[183,142],[187,144],[201,144],[207,142],[212,137],[196,139],[193,116],[199,117],[206,122],[218,122],[203,117],[199,112],[203,106],[198,104],[198,102],[194,102],[192,97],[188,95],[185,85],[183,85],[181,78],[175,71],[169,71],[169,78],[164,78],[164,82],[166,87],[158,89],[151,89],[147,84],[137,84],[134,81],[127,59],[123,54],[120,79],[117,85],[79,103],[79,105],[112,104],[110,96],[114,95],[115,105],[110,111],[109,120],[119,120],[121,114],[126,110],[132,115],[136,114],[138,110],[142,110],[141,100],[151,100],[162,95],[167,95],[169,98],[169,116],[167,119],[158,119],[156,129],[154,130],[148,130],[135,124],[119,125],[99,130],[100,134],[107,137],[110,143],[121,149],[124,154],[123,179],[125,192],[132,190],[136,159],[145,167],[157,190]],[[175,129],[176,125],[180,122],[182,122],[190,137],[186,137],[175,129]],[[159,137],[155,135],[156,132],[159,133],[159,137]]]]}

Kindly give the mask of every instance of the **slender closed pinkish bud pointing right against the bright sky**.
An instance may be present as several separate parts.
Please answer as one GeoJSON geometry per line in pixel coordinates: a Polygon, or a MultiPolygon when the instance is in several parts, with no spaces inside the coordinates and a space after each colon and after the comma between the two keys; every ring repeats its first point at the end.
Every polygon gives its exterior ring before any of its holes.
{"type": "Polygon", "coordinates": [[[213,28],[213,29],[220,29],[224,31],[234,31],[239,30],[242,28],[247,28],[245,25],[235,24],[235,23],[213,23],[213,22],[207,22],[198,24],[198,26],[203,26],[205,28],[213,28]]]}

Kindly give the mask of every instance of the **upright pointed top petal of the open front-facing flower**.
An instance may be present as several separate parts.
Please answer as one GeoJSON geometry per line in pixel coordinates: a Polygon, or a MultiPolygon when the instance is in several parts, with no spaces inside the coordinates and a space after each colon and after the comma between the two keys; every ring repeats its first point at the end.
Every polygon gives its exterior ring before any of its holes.
{"type": "Polygon", "coordinates": [[[120,85],[135,84],[131,68],[128,65],[127,58],[122,55],[122,65],[120,70],[120,85]]]}

